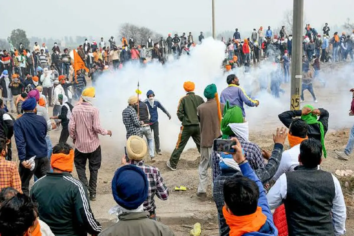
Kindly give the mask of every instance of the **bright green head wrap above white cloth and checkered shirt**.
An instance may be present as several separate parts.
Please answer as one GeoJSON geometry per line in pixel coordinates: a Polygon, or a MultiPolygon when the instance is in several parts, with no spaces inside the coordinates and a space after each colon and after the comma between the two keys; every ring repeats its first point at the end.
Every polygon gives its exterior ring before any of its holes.
{"type": "Polygon", "coordinates": [[[222,139],[227,139],[230,135],[234,134],[229,123],[243,123],[242,109],[238,106],[230,107],[229,101],[226,102],[224,107],[223,119],[221,120],[222,139]]]}

